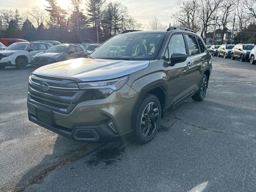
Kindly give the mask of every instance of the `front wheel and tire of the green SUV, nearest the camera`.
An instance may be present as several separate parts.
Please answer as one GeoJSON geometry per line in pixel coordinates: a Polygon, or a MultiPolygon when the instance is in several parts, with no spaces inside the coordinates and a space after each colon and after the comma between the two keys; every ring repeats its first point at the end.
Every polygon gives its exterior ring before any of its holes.
{"type": "Polygon", "coordinates": [[[158,131],[161,104],[152,94],[146,94],[137,108],[135,116],[135,138],[140,144],[150,142],[158,131]]]}

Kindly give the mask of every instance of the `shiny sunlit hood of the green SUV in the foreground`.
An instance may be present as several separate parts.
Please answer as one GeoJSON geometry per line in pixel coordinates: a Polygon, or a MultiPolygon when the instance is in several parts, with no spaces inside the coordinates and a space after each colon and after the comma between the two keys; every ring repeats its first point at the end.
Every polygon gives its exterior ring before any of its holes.
{"type": "Polygon", "coordinates": [[[78,58],[42,66],[33,74],[87,82],[126,76],[148,65],[149,61],[78,58]]]}

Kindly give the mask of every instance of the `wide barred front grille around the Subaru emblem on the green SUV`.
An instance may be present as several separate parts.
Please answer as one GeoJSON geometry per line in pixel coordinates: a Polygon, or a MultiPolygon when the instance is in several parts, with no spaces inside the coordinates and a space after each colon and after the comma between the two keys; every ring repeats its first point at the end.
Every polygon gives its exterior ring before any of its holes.
{"type": "Polygon", "coordinates": [[[80,90],[76,82],[58,78],[49,78],[32,74],[28,86],[28,102],[43,106],[50,110],[69,114],[86,93],[80,90]],[[40,84],[45,82],[49,89],[44,91],[40,84]]]}

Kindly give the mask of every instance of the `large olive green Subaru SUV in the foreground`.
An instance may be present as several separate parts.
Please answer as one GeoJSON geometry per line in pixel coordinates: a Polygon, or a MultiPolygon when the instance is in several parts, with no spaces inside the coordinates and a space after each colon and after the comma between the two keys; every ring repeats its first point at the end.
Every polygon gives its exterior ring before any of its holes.
{"type": "Polygon", "coordinates": [[[204,100],[211,70],[211,56],[191,30],[122,33],[88,58],[32,72],[28,118],[75,141],[131,136],[147,143],[166,112],[190,97],[204,100]]]}

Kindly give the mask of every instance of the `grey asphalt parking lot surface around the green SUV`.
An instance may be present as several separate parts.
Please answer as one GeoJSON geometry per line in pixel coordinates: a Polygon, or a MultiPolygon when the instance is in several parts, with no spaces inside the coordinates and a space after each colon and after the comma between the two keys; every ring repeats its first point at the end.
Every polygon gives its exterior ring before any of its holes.
{"type": "Polygon", "coordinates": [[[162,119],[152,142],[73,142],[28,121],[28,76],[0,70],[1,192],[254,192],[256,65],[213,57],[203,102],[162,119]]]}

